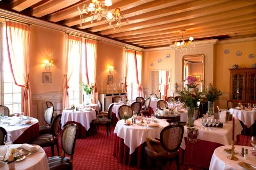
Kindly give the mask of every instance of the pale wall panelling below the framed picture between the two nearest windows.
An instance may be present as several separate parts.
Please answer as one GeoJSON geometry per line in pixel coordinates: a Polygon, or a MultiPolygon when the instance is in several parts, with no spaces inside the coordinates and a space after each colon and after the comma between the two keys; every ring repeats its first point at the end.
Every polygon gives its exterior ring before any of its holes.
{"type": "Polygon", "coordinates": [[[44,113],[46,102],[52,102],[54,106],[54,114],[62,112],[62,91],[55,92],[32,92],[32,116],[39,120],[40,125],[45,124],[44,113]]]}

